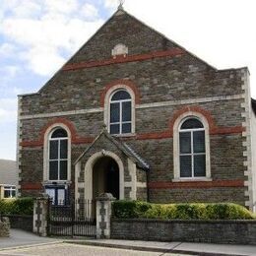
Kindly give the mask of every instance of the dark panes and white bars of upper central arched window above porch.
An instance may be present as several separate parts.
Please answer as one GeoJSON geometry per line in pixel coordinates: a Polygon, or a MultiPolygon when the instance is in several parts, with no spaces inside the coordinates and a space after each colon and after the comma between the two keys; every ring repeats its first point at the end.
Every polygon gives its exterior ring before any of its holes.
{"type": "Polygon", "coordinates": [[[110,96],[109,132],[126,134],[132,132],[132,98],[125,90],[110,96]]]}

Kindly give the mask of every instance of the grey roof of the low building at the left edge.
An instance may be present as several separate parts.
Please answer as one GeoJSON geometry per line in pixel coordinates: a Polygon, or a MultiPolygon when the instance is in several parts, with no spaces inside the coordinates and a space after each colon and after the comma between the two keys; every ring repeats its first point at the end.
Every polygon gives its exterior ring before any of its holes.
{"type": "Polygon", "coordinates": [[[18,185],[15,160],[0,160],[0,185],[18,185]]]}

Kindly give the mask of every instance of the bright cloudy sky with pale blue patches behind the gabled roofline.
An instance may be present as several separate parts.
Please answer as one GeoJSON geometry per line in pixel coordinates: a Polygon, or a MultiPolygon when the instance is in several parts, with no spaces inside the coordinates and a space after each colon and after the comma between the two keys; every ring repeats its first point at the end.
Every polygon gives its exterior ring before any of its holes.
{"type": "MultiPolygon", "coordinates": [[[[36,92],[117,0],[0,0],[0,159],[16,158],[17,94],[36,92]]],[[[255,0],[126,0],[124,9],[218,69],[248,66],[256,97],[255,0]]]]}

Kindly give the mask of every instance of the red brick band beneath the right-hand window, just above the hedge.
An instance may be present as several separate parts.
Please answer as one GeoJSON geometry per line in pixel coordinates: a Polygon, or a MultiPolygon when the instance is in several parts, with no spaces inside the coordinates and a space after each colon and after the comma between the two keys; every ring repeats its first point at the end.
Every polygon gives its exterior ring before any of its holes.
{"type": "Polygon", "coordinates": [[[186,181],[170,182],[155,181],[149,182],[152,189],[176,189],[176,188],[213,188],[213,187],[244,187],[243,180],[214,180],[214,181],[186,181]]]}

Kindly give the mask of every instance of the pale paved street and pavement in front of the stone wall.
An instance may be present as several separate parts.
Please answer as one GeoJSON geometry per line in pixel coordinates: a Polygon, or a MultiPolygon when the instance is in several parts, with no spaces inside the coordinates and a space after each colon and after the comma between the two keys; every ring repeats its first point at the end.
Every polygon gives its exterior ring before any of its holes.
{"type": "Polygon", "coordinates": [[[248,255],[256,256],[256,246],[210,243],[131,241],[114,239],[62,239],[39,237],[11,229],[0,238],[0,255],[248,255]],[[175,254],[173,254],[175,253],[175,254]]]}

